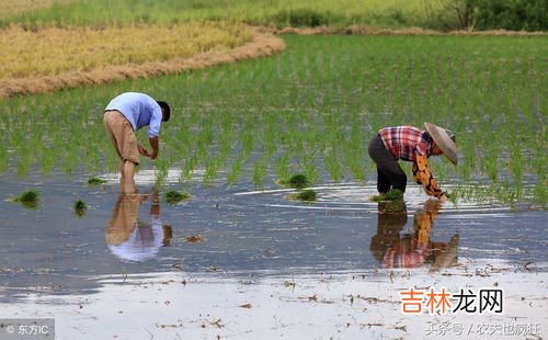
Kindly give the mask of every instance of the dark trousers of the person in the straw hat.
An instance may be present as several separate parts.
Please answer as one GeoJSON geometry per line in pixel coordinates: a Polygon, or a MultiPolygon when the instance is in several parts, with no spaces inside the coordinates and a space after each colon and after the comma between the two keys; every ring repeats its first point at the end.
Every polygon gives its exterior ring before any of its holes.
{"type": "Polygon", "coordinates": [[[377,190],[386,193],[390,189],[406,192],[408,177],[396,157],[385,147],[379,134],[369,141],[369,156],[377,163],[377,190]]]}

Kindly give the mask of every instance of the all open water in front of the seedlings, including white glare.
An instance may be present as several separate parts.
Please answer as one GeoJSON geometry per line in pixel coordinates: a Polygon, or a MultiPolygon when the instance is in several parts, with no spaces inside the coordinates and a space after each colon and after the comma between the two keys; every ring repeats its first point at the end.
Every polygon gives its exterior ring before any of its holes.
{"type": "Polygon", "coordinates": [[[141,196],[130,199],[118,197],[116,174],[99,186],[83,173],[2,175],[0,317],[55,318],[60,339],[436,339],[433,327],[447,322],[548,327],[546,211],[441,205],[416,185],[404,204],[374,203],[373,181],[318,184],[318,201],[300,203],[274,183],[203,186],[195,175],[192,197],[175,205],[163,196],[179,186],[175,171],[155,194],[155,172],[142,170],[141,196]],[[27,189],[41,193],[37,208],[7,200],[27,189]],[[81,217],[76,200],[88,204],[81,217]],[[506,313],[403,315],[408,286],[501,287],[506,313]]]}

